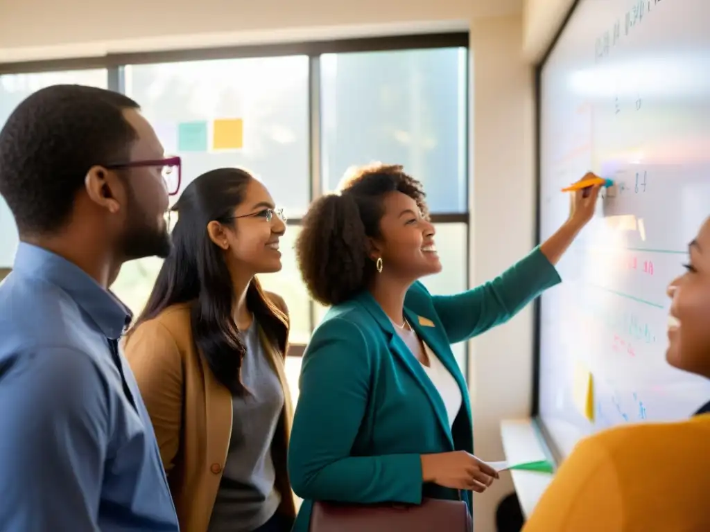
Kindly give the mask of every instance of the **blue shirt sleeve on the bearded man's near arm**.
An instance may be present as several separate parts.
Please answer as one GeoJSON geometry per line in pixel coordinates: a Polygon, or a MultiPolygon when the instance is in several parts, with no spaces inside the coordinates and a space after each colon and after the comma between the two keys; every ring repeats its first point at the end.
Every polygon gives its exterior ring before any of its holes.
{"type": "Polygon", "coordinates": [[[99,532],[109,404],[85,353],[52,348],[0,363],[0,529],[99,532]]]}

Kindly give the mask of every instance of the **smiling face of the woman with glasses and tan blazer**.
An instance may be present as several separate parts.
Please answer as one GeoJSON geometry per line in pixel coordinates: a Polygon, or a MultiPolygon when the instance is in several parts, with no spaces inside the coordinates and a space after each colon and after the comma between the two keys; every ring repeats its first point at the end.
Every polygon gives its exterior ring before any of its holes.
{"type": "Polygon", "coordinates": [[[229,269],[249,276],[278,272],[279,238],[286,226],[275,212],[271,194],[257,179],[249,180],[230,221],[211,221],[207,226],[212,241],[224,250],[229,269]]]}

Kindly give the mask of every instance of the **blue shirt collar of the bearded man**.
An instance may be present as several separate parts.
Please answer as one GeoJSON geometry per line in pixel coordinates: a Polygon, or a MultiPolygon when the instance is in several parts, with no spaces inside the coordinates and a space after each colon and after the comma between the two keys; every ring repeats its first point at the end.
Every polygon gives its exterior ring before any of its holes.
{"type": "Polygon", "coordinates": [[[107,338],[121,338],[131,323],[133,316],[126,305],[80,267],[55,253],[21,242],[13,270],[55,284],[69,294],[107,338]]]}

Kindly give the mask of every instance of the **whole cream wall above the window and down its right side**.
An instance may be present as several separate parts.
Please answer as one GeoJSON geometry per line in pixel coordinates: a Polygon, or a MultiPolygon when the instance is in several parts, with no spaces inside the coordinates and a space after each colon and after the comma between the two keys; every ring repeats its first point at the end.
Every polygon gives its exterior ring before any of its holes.
{"type": "MultiPolygon", "coordinates": [[[[525,28],[520,0],[177,0],[167,7],[144,0],[0,1],[0,62],[470,28],[472,285],[532,246],[533,87],[523,36],[529,50],[535,39],[540,48],[557,23],[551,11],[535,18],[530,9],[569,0],[528,0],[525,28]]],[[[472,343],[469,377],[482,458],[503,458],[500,419],[529,414],[531,354],[530,309],[472,343]]],[[[476,532],[495,530],[496,504],[512,490],[504,477],[475,497],[476,532]]]]}

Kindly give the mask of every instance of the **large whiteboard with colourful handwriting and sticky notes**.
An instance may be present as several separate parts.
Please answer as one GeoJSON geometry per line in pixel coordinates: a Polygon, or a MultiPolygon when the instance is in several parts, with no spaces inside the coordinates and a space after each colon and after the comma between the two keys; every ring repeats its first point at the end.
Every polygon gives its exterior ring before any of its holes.
{"type": "Polygon", "coordinates": [[[578,1],[539,97],[540,240],[569,214],[562,187],[587,170],[618,184],[540,301],[539,414],[564,458],[585,435],[710,399],[665,361],[666,287],[710,215],[710,1],[578,1]]]}

